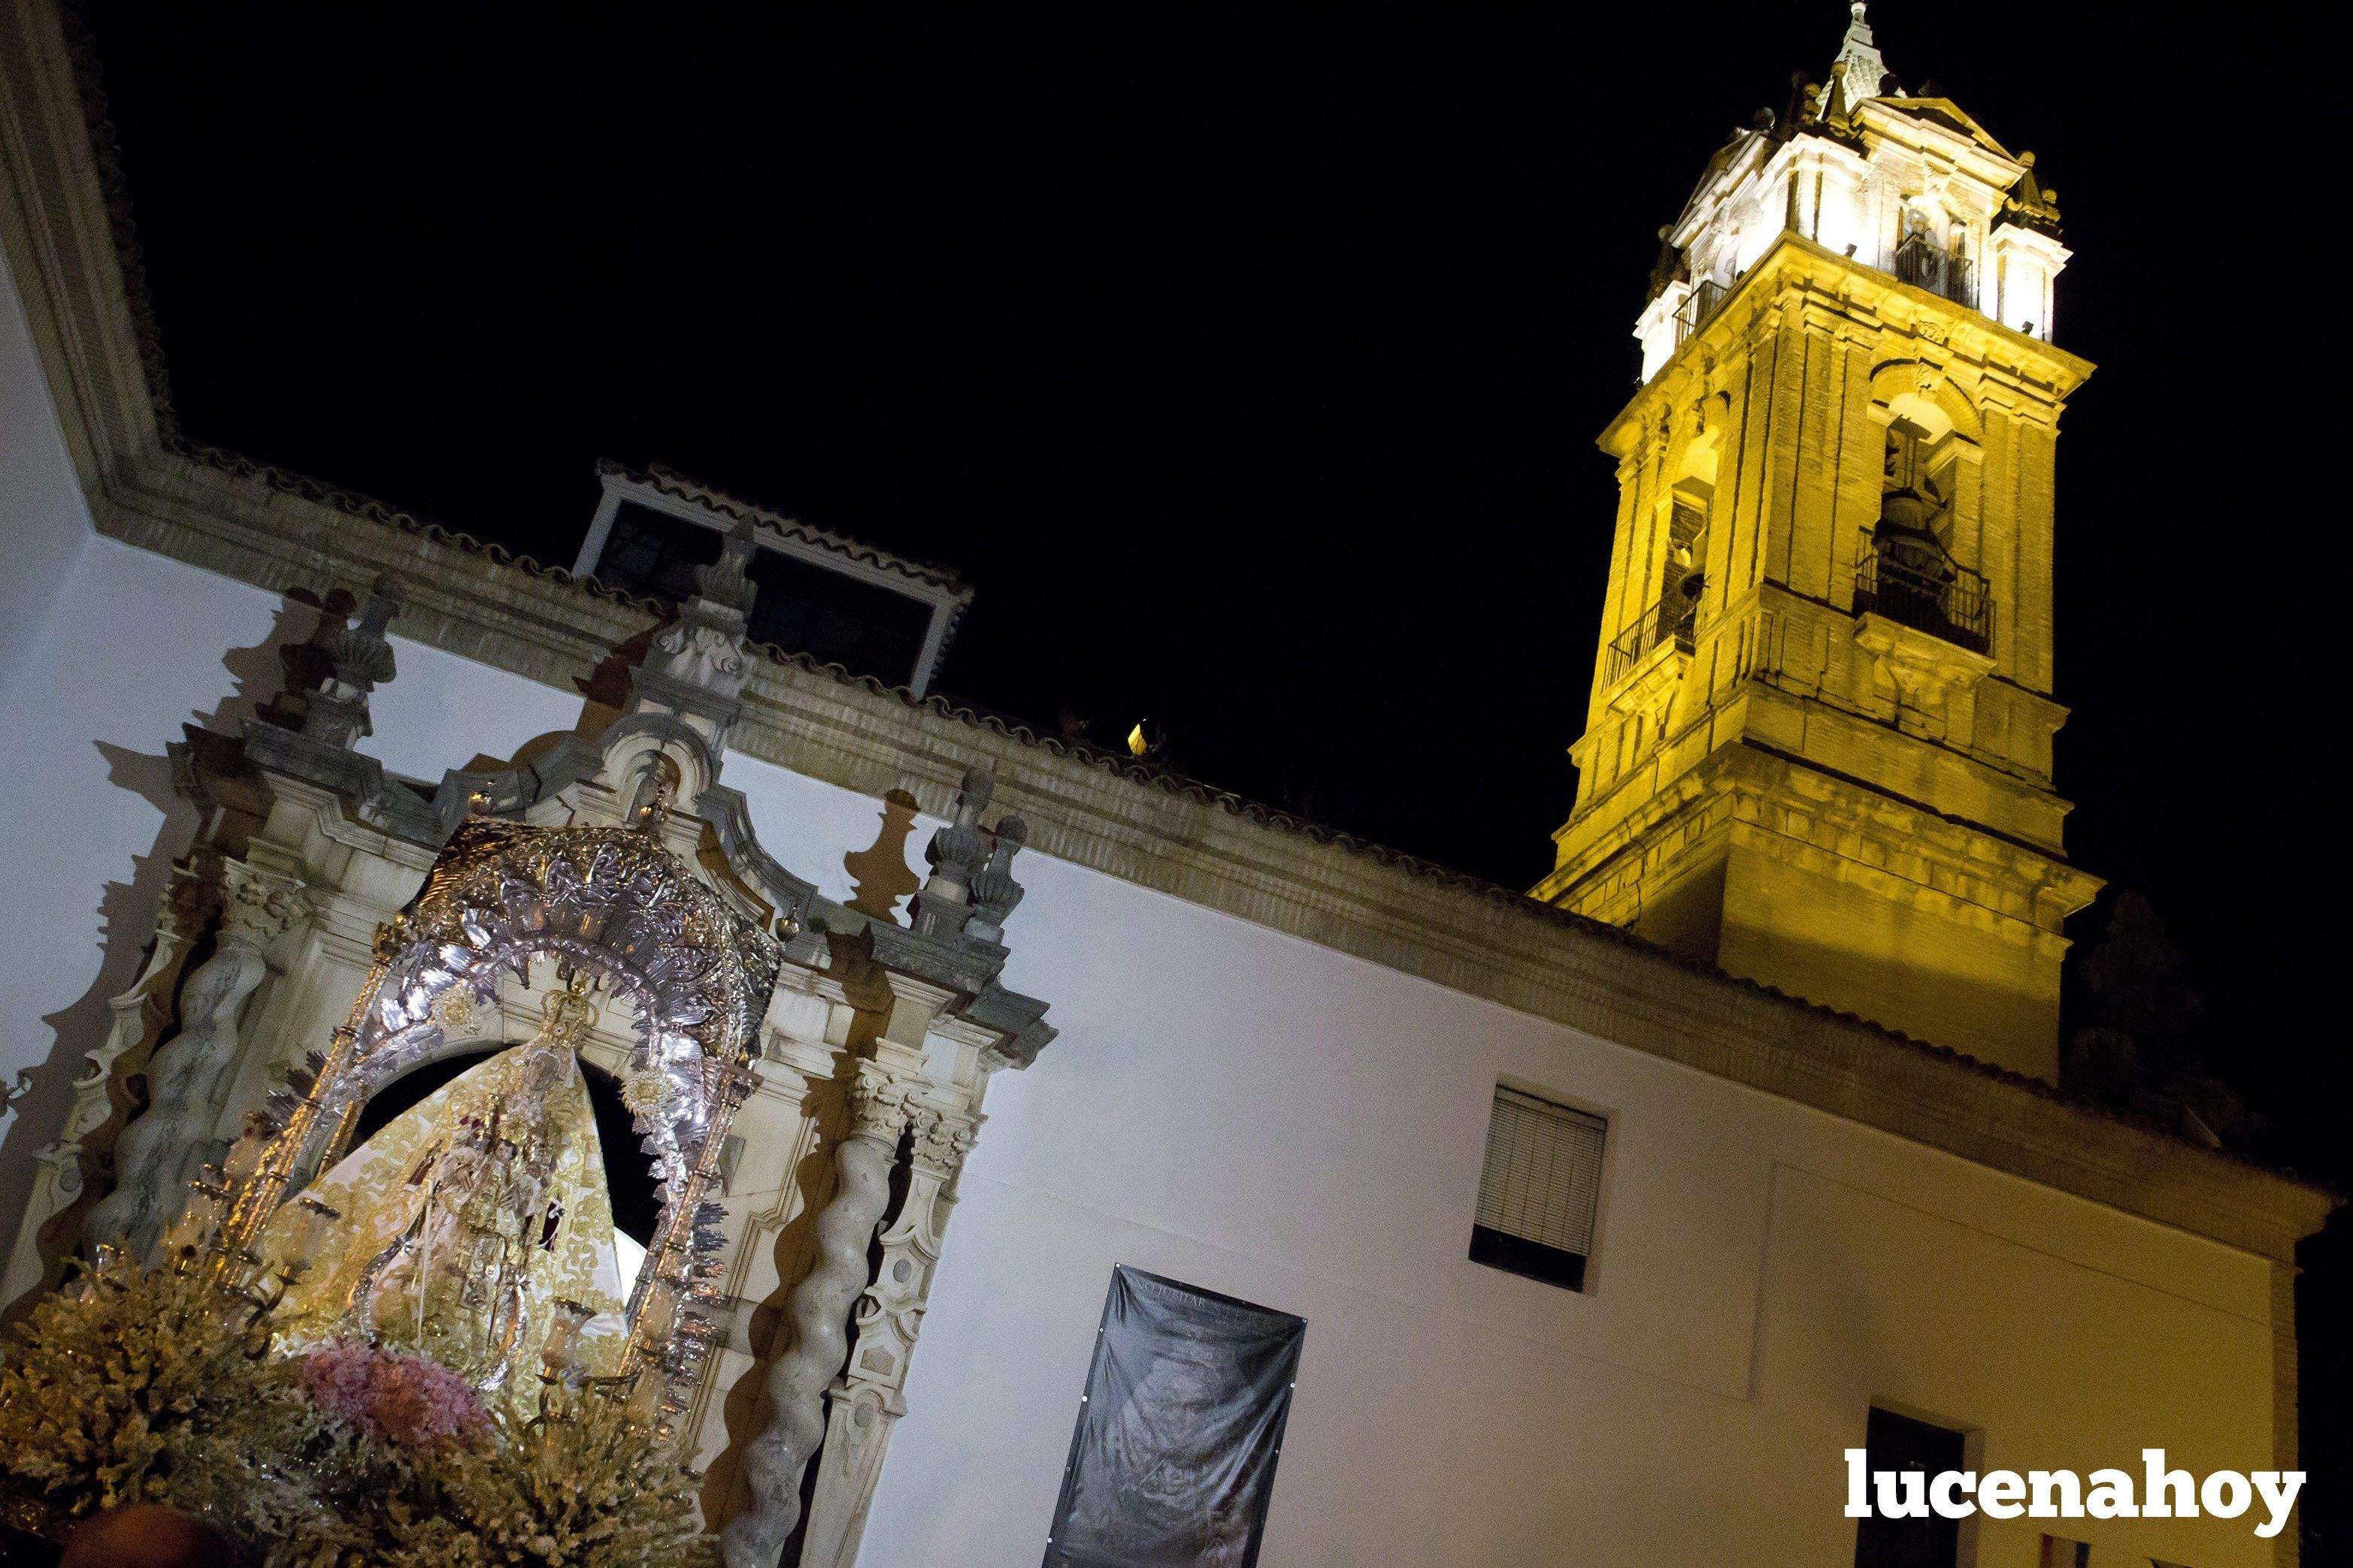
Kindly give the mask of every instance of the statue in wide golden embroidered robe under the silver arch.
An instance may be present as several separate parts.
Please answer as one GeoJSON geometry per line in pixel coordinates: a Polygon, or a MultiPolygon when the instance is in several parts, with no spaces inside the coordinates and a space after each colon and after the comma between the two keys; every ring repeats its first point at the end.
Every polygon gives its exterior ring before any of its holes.
{"type": "Polygon", "coordinates": [[[593,1025],[581,980],[551,992],[527,1044],[442,1084],[271,1220],[264,1258],[313,1253],[275,1307],[287,1347],[414,1349],[515,1401],[536,1399],[551,1349],[581,1375],[616,1371],[628,1284],[579,1065],[593,1025]]]}

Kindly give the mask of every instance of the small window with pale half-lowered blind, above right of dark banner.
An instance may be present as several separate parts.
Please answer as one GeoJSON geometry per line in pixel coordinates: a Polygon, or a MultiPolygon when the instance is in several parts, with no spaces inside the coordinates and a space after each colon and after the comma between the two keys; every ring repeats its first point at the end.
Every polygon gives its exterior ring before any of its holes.
{"type": "Polygon", "coordinates": [[[1602,1117],[1497,1088],[1471,1262],[1584,1291],[1607,1133],[1602,1117]]]}

